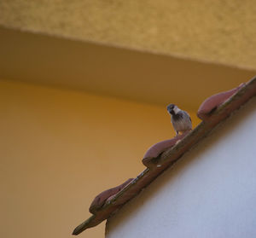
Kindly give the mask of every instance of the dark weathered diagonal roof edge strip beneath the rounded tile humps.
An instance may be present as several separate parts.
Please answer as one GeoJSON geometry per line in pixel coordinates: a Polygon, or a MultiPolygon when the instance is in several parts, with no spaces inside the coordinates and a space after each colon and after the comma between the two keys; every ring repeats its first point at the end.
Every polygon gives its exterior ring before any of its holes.
{"type": "Polygon", "coordinates": [[[218,106],[212,113],[208,114],[207,119],[203,120],[193,131],[189,132],[172,148],[168,148],[165,152],[149,160],[147,166],[134,180],[131,181],[119,193],[113,195],[94,215],[88,218],[84,223],[73,230],[73,235],[79,235],[84,229],[94,227],[103,220],[109,218],[114,212],[124,206],[126,202],[137,196],[142,189],[148,186],[154,179],[167,168],[172,166],[179,160],[183,154],[193,148],[198,142],[206,137],[213,128],[228,118],[231,113],[235,112],[241,105],[256,95],[256,77],[247,82],[233,96],[218,106]]]}

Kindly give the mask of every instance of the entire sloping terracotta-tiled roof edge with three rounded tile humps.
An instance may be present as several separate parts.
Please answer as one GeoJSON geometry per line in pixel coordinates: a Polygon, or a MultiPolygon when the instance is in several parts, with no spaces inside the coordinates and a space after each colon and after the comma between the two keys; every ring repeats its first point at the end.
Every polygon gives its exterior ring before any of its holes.
{"type": "Polygon", "coordinates": [[[74,229],[73,235],[109,218],[253,96],[256,96],[256,77],[236,89],[207,98],[198,111],[198,116],[203,119],[201,124],[185,135],[158,142],[149,148],[143,157],[143,164],[148,168],[135,179],[97,195],[90,206],[90,212],[94,214],[74,229]]]}

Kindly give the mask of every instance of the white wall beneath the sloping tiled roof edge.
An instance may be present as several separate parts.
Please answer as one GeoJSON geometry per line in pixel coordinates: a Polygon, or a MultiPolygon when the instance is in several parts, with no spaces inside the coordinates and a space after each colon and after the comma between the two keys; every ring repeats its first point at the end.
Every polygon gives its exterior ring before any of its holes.
{"type": "Polygon", "coordinates": [[[108,222],[108,238],[256,237],[256,98],[108,222]]]}

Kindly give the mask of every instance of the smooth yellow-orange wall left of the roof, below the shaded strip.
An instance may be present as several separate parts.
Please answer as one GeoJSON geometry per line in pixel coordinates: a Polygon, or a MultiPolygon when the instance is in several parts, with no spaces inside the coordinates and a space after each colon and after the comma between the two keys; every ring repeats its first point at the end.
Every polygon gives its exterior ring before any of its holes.
{"type": "MultiPolygon", "coordinates": [[[[0,135],[0,237],[64,238],[174,133],[165,107],[0,81],[0,135]]],[[[103,234],[101,224],[80,237],[103,234]]]]}

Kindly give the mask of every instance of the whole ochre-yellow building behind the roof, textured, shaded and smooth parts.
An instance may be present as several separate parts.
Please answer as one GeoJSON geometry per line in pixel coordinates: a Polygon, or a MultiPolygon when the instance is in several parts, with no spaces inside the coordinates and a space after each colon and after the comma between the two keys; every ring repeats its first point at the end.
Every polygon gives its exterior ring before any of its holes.
{"type": "MultiPolygon", "coordinates": [[[[61,78],[62,84],[70,85],[80,77],[83,84],[94,82],[104,90],[111,85],[111,92],[117,88],[116,96],[137,99],[143,98],[141,88],[147,95],[156,88],[163,94],[166,88],[167,95],[176,91],[175,102],[198,105],[200,97],[229,90],[255,74],[232,68],[256,68],[254,2],[3,0],[0,41],[6,54],[0,55],[0,78],[45,84],[47,80],[55,84],[61,78]],[[9,35],[5,27],[36,32],[38,39],[23,33],[9,35]],[[44,35],[61,38],[44,40],[44,35]],[[62,37],[79,42],[67,44],[62,37]],[[108,51],[88,42],[175,57],[169,61],[166,56],[139,56],[130,51],[122,56],[117,49],[108,51]],[[79,51],[82,53],[77,54],[79,51]],[[125,60],[120,61],[120,55],[125,60]],[[176,62],[176,55],[193,63],[176,62]],[[197,60],[232,67],[199,64],[197,60]],[[100,65],[106,70],[99,69],[100,65]],[[154,68],[152,73],[147,67],[154,68]],[[89,76],[84,77],[84,72],[89,76]],[[98,72],[107,74],[97,77],[98,72]],[[74,78],[75,74],[79,76],[74,78]],[[147,74],[151,77],[145,78],[147,74]],[[169,80],[169,75],[186,87],[173,90],[168,85],[175,81],[169,80]],[[115,83],[120,78],[137,89],[137,97],[133,90],[124,95],[129,84],[124,89],[123,83],[115,83]],[[160,86],[155,86],[156,80],[160,86]],[[149,82],[151,90],[144,90],[142,82],[149,82]]],[[[195,113],[191,115],[196,125],[199,120],[195,113]]],[[[144,169],[141,158],[146,149],[174,133],[164,106],[1,81],[0,135],[0,222],[4,228],[0,237],[40,238],[70,237],[73,228],[90,216],[88,207],[95,195],[136,177],[144,169]]],[[[103,237],[103,229],[100,225],[80,236],[103,237]]]]}

